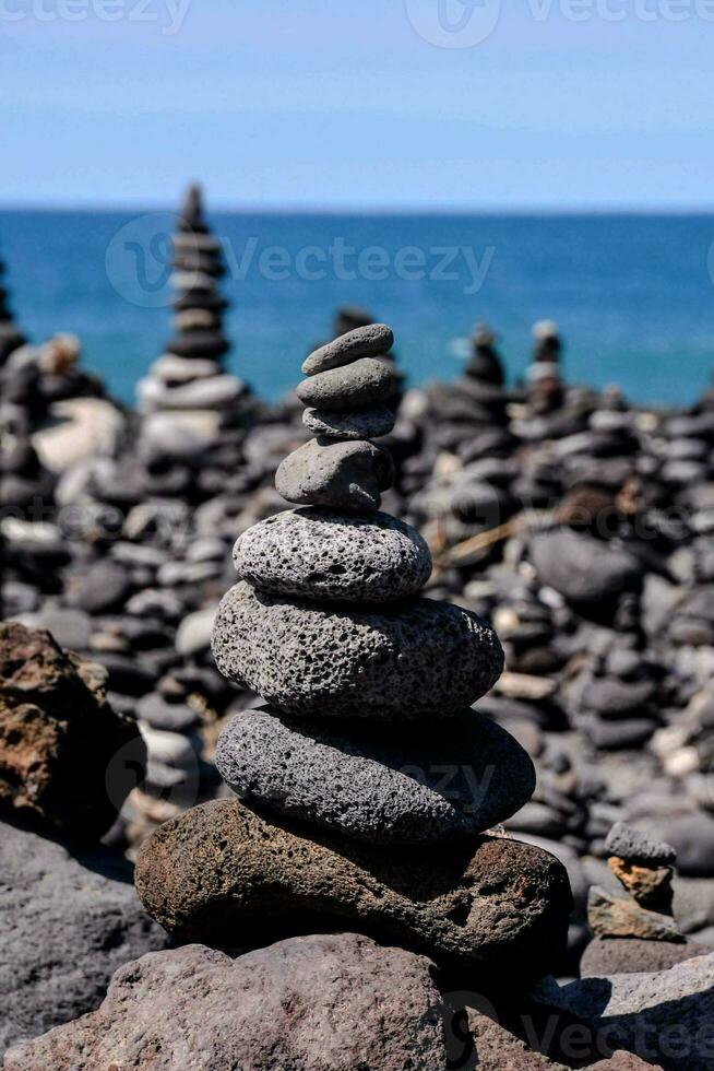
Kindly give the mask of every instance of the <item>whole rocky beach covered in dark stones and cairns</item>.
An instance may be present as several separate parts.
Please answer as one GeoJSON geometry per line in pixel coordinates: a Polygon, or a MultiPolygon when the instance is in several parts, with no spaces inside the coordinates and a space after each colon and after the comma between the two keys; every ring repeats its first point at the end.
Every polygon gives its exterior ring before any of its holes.
{"type": "Polygon", "coordinates": [[[350,306],[270,403],[177,221],[131,407],[1,279],[4,1067],[714,1068],[714,393],[350,306]]]}

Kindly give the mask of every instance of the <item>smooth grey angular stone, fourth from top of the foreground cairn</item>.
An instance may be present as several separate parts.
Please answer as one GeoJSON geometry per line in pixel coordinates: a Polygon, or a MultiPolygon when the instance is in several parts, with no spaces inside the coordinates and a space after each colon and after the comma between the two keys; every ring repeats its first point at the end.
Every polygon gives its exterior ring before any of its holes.
{"type": "Polygon", "coordinates": [[[391,455],[373,443],[310,439],[281,461],[275,490],[298,505],[369,511],[379,509],[381,491],[392,486],[391,455]]]}

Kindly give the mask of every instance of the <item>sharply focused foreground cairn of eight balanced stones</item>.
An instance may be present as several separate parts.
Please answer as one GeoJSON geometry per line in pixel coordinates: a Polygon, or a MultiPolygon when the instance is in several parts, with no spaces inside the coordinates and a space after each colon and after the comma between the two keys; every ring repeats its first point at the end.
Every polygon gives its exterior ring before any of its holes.
{"type": "Polygon", "coordinates": [[[534,768],[471,708],[501,672],[498,637],[418,598],[427,545],[379,510],[392,341],[370,325],[302,365],[316,438],[275,479],[298,508],[238,539],[214,625],[219,670],[265,701],[218,741],[238,799],[162,825],[136,887],[179,940],[356,929],[491,981],[538,977],[564,944],[568,879],[540,848],[485,835],[531,797],[534,768]]]}

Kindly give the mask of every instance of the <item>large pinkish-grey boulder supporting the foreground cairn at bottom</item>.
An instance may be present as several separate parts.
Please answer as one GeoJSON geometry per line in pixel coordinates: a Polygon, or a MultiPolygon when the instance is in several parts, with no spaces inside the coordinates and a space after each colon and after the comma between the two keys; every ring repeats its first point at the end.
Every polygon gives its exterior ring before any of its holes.
{"type": "Polygon", "coordinates": [[[281,941],[236,960],[154,953],[102,1008],[9,1055],[7,1071],[402,1071],[445,1064],[432,965],[355,933],[281,941]]]}

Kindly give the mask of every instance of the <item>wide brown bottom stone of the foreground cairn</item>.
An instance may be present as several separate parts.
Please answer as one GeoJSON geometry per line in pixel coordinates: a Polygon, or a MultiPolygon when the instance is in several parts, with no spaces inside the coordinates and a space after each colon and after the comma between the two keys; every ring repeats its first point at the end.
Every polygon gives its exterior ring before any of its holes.
{"type": "Polygon", "coordinates": [[[148,914],[180,941],[246,948],[356,929],[511,985],[514,970],[525,984],[558,961],[571,906],[562,864],[517,840],[385,849],[306,835],[235,799],[159,826],[141,846],[135,881],[148,914]]]}

